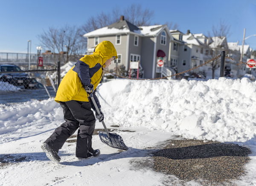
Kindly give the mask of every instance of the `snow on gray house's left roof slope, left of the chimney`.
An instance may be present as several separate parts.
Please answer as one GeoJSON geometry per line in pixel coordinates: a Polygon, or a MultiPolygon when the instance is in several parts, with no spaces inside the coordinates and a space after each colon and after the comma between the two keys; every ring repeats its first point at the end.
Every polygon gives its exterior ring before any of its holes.
{"type": "Polygon", "coordinates": [[[129,33],[130,30],[128,28],[118,29],[118,28],[108,28],[108,26],[105,26],[103,28],[99,28],[95,31],[88,32],[87,34],[84,34],[84,37],[90,37],[90,36],[99,36],[99,35],[109,35],[109,34],[121,34],[121,33],[129,33]]]}

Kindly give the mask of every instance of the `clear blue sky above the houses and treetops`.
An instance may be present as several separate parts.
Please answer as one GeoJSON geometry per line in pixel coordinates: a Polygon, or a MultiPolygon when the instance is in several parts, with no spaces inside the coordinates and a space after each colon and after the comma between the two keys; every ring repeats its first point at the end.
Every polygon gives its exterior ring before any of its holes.
{"type": "MultiPolygon", "coordinates": [[[[113,8],[123,9],[137,0],[0,0],[0,52],[26,52],[32,40],[32,53],[40,45],[37,38],[49,27],[83,25],[87,18],[113,8]]],[[[220,20],[230,24],[228,42],[241,43],[256,34],[256,0],[140,0],[143,8],[154,11],[152,24],[166,21],[178,24],[183,33],[208,34],[220,20]]],[[[256,37],[245,43],[256,50],[256,37]]],[[[44,49],[45,50],[45,49],[44,49]]],[[[44,51],[43,50],[43,51],[44,51]]]]}

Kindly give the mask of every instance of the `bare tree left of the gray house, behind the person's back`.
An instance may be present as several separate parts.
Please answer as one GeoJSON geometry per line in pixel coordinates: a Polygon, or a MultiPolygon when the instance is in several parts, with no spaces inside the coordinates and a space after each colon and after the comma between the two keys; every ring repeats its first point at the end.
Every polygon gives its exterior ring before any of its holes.
{"type": "MultiPolygon", "coordinates": [[[[65,26],[63,28],[50,27],[38,35],[41,45],[53,53],[66,54],[66,62],[70,56],[83,54],[86,49],[86,40],[82,37],[81,28],[65,26]]],[[[60,60],[60,59],[58,59],[60,60]]]]}

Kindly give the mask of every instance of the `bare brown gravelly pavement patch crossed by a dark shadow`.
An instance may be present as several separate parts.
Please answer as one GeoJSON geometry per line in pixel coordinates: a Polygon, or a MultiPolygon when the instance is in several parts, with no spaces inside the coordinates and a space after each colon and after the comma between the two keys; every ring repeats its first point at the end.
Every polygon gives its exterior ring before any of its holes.
{"type": "Polygon", "coordinates": [[[153,169],[202,185],[230,185],[246,172],[251,153],[237,144],[201,140],[170,140],[153,153],[153,169]]]}

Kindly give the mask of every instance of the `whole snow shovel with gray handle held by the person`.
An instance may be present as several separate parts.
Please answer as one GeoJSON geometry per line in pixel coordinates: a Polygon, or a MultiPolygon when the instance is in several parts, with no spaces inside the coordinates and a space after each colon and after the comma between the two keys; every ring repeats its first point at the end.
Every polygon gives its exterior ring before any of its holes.
{"type": "MultiPolygon", "coordinates": [[[[90,99],[93,101],[93,105],[96,108],[97,113],[100,114],[99,108],[93,98],[93,93],[90,93],[89,95],[90,99]]],[[[99,131],[100,140],[110,147],[121,150],[128,150],[128,147],[125,145],[124,141],[122,140],[122,137],[115,133],[109,133],[104,121],[102,120],[101,122],[106,132],[99,131]]]]}

